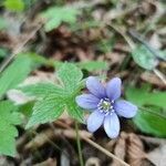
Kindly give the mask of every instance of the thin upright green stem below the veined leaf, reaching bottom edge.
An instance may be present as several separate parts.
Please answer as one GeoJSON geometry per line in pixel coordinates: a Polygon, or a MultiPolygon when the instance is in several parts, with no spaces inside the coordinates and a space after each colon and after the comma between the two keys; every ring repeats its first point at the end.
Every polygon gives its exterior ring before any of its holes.
{"type": "Polygon", "coordinates": [[[82,152],[81,152],[81,142],[80,142],[80,134],[79,134],[79,125],[77,125],[76,121],[75,121],[75,133],[76,133],[76,145],[77,145],[80,165],[84,166],[83,156],[82,156],[82,152]]]}

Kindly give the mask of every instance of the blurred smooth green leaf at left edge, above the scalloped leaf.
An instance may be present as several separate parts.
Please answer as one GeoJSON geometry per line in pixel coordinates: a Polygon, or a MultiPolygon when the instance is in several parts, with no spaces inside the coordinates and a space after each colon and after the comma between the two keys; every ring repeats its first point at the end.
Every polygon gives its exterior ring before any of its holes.
{"type": "Polygon", "coordinates": [[[0,75],[0,96],[21,83],[30,73],[31,65],[29,58],[18,56],[0,75]]]}

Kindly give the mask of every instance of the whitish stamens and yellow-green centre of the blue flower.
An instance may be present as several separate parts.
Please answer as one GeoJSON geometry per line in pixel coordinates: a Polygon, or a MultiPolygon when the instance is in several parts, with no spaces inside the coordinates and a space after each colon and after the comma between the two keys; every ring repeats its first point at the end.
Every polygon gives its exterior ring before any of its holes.
{"type": "Polygon", "coordinates": [[[108,98],[102,98],[97,105],[100,112],[107,114],[108,112],[113,112],[113,103],[114,101],[110,101],[108,98]]]}

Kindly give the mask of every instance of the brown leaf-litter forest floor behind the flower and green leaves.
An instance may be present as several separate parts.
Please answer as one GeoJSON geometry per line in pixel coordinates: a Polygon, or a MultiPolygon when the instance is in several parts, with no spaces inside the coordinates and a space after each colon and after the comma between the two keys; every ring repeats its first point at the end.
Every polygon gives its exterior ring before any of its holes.
{"type": "MultiPolygon", "coordinates": [[[[124,97],[126,97],[128,86],[132,85],[135,86],[136,93],[133,93],[132,97],[139,95],[138,92],[143,91],[143,84],[151,85],[152,93],[164,92],[166,90],[165,61],[153,59],[154,63],[157,61],[157,65],[153,70],[148,70],[148,65],[149,68],[153,65],[148,62],[151,58],[147,58],[145,62],[142,60],[139,62],[131,55],[131,48],[147,44],[147,48],[156,50],[166,49],[165,7],[164,2],[155,0],[66,0],[60,2],[37,0],[21,14],[13,14],[1,8],[1,14],[11,25],[6,31],[0,30],[0,46],[6,48],[11,56],[28,51],[55,62],[86,63],[93,61],[94,64],[87,63],[86,66],[84,64],[84,74],[100,75],[108,77],[107,80],[120,76],[123,80],[124,97]],[[76,7],[82,10],[82,13],[70,25],[62,22],[58,28],[49,27],[48,29],[51,30],[45,32],[44,20],[40,19],[39,13],[53,6],[76,7]],[[102,63],[96,64],[95,62],[102,63]]],[[[65,15],[64,12],[60,14],[65,15]]],[[[154,54],[156,55],[156,52],[154,54]]],[[[0,61],[2,62],[3,59],[1,58],[0,61]]],[[[31,72],[25,83],[54,81],[53,75],[53,66],[42,64],[31,72]]],[[[20,101],[20,97],[24,100],[14,91],[10,91],[7,97],[13,101],[20,101]]],[[[143,97],[146,96],[139,96],[137,100],[144,100],[143,97]]],[[[85,166],[124,165],[120,159],[131,166],[166,165],[166,139],[164,136],[155,135],[155,132],[146,131],[146,128],[144,131],[144,124],[137,127],[132,120],[122,120],[121,125],[120,136],[111,139],[103,128],[91,134],[84,124],[79,124],[85,166]],[[89,142],[90,139],[92,142],[89,142]],[[101,147],[120,159],[107,155],[101,147]]],[[[164,128],[164,126],[160,127],[164,128]]],[[[15,157],[1,156],[0,166],[80,165],[75,124],[68,114],[63,114],[53,123],[38,125],[31,131],[24,131],[20,126],[18,129],[18,153],[15,157]]],[[[166,136],[166,131],[163,131],[166,136]]]]}

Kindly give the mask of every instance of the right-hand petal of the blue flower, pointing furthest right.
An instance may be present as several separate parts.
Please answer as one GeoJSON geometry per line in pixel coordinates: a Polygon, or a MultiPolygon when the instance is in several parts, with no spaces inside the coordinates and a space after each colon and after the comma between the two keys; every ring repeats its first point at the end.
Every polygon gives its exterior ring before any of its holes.
{"type": "Polygon", "coordinates": [[[127,117],[127,118],[134,117],[137,111],[136,105],[124,100],[115,102],[114,108],[117,115],[127,117]]]}

